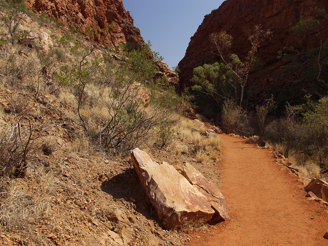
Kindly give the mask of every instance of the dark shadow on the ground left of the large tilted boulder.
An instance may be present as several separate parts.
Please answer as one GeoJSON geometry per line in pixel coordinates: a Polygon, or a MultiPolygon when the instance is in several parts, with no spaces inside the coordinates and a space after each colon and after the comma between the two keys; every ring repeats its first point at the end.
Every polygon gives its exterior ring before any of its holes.
{"type": "Polygon", "coordinates": [[[115,175],[102,182],[101,190],[112,195],[114,201],[125,200],[131,203],[131,207],[136,212],[144,215],[147,219],[159,222],[149,198],[142,190],[140,180],[134,168],[128,168],[124,173],[115,175]]]}

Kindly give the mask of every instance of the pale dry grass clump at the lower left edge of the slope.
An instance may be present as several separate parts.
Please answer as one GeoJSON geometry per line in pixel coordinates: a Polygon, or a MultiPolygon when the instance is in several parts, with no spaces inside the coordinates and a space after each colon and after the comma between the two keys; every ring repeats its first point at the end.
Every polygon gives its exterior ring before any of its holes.
{"type": "Polygon", "coordinates": [[[33,184],[1,178],[0,232],[33,227],[34,221],[49,214],[49,200],[55,185],[52,172],[40,174],[33,184]]]}

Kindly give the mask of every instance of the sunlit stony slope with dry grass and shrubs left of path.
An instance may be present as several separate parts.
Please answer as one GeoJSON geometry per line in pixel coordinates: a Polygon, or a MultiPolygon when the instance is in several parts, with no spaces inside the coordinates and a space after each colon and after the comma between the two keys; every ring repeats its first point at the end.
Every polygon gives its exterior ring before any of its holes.
{"type": "Polygon", "coordinates": [[[19,2],[0,4],[0,241],[99,245],[114,232],[130,245],[180,245],[124,157],[139,147],[201,170],[221,142],[182,120],[183,98],[154,80],[161,57],[147,45],[98,46],[19,2]]]}

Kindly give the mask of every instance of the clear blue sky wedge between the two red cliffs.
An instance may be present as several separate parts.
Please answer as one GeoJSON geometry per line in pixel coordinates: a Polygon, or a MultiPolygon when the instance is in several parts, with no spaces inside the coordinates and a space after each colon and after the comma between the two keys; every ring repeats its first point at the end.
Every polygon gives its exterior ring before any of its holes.
{"type": "Polygon", "coordinates": [[[134,26],[152,51],[164,57],[169,68],[184,57],[190,38],[202,23],[204,15],[217,9],[223,0],[123,0],[134,26]]]}

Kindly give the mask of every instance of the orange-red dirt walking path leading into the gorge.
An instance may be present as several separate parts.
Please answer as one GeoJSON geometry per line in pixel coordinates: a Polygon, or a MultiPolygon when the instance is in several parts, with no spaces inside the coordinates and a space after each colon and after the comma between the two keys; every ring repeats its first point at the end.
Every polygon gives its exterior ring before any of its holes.
{"type": "Polygon", "coordinates": [[[219,134],[224,145],[221,163],[230,220],[210,233],[192,235],[199,245],[328,245],[328,207],[305,197],[295,174],[276,162],[268,149],[245,139],[219,134]]]}

